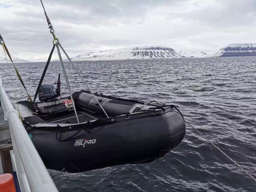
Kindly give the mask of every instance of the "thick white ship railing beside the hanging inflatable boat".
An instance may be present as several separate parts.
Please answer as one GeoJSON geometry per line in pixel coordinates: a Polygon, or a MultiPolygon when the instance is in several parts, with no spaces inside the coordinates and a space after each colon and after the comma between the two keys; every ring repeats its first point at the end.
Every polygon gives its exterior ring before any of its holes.
{"type": "Polygon", "coordinates": [[[12,164],[17,172],[21,191],[58,192],[26,129],[20,121],[18,112],[14,109],[6,95],[1,78],[0,101],[4,109],[5,118],[9,122],[13,146],[13,153],[11,152],[12,164]]]}

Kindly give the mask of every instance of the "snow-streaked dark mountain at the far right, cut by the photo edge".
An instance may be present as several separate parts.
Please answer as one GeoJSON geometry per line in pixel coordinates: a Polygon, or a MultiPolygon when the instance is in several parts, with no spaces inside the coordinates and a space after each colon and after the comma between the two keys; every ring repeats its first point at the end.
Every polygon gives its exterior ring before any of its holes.
{"type": "Polygon", "coordinates": [[[232,43],[224,46],[214,56],[256,56],[256,43],[232,43]]]}

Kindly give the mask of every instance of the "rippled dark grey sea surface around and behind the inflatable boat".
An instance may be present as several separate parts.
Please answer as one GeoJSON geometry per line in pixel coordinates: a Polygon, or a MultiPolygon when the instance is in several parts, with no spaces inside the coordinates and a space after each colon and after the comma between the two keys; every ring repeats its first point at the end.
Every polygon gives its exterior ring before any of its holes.
{"type": "MultiPolygon", "coordinates": [[[[94,92],[176,105],[198,128],[256,177],[256,57],[188,58],[75,62],[94,92]]],[[[45,63],[16,64],[33,95],[45,63]]],[[[86,90],[65,63],[72,91],[86,90]]],[[[26,99],[11,74],[19,99],[26,99]]],[[[0,76],[13,97],[6,64],[0,76]]],[[[49,66],[44,83],[57,81],[62,69],[49,66]]],[[[67,94],[62,76],[62,95],[67,94]]],[[[12,98],[13,100],[13,98],[12,98]]],[[[188,125],[182,143],[166,161],[127,164],[83,173],[49,170],[60,192],[254,192],[256,183],[188,125]]],[[[86,163],[86,162],[84,162],[86,163]]]]}

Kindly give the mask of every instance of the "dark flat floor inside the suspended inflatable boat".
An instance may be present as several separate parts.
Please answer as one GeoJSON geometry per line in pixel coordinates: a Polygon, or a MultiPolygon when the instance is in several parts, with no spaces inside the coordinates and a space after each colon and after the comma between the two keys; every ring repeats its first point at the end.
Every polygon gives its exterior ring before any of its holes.
{"type": "MultiPolygon", "coordinates": [[[[85,112],[82,112],[82,111],[77,111],[77,116],[78,116],[78,120],[79,120],[80,123],[97,119],[94,116],[91,116],[91,115],[89,115],[85,112]]],[[[69,112],[68,114],[65,114],[65,115],[62,115],[62,116],[58,116],[58,117],[55,117],[55,118],[45,120],[45,121],[47,121],[49,123],[74,123],[74,124],[77,123],[76,115],[75,115],[74,111],[69,112]]]]}

